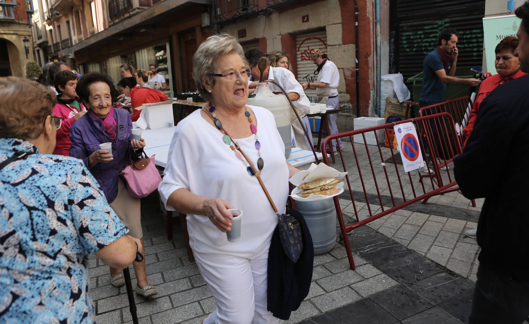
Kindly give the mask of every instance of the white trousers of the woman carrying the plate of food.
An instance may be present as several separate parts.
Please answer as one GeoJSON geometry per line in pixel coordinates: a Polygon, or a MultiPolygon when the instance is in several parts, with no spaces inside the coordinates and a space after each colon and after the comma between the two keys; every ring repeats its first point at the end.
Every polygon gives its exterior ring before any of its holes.
{"type": "Polygon", "coordinates": [[[251,259],[193,251],[216,309],[205,324],[279,323],[267,310],[268,249],[251,259]]]}

